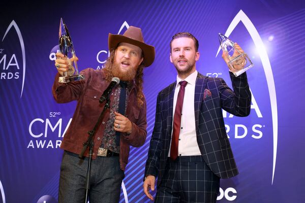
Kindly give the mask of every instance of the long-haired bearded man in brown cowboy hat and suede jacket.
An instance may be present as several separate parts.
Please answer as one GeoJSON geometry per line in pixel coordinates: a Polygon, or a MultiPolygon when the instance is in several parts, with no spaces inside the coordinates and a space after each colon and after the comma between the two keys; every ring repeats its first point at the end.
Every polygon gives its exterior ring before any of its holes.
{"type": "Polygon", "coordinates": [[[52,87],[57,103],[77,100],[72,122],[60,148],[64,149],[60,167],[58,202],[84,202],[88,149],[79,159],[87,131],[94,128],[105,103],[99,98],[111,79],[120,79],[112,89],[110,108],[106,110],[94,136],[90,171],[90,202],[118,202],[129,147],[140,147],[146,139],[146,101],[142,91],[143,68],[154,62],[155,48],[144,43],[140,28],[130,26],[124,35],[109,33],[110,56],[104,69],[80,72],[84,81],[58,83],[68,70],[69,59],[57,53],[58,73],[52,87]],[[122,93],[122,94],[121,94],[122,93]],[[125,98],[124,98],[125,97],[125,98]],[[124,99],[123,99],[124,98],[124,99]],[[125,107],[124,107],[125,106],[125,107]],[[119,109],[123,112],[118,113],[119,109]]]}

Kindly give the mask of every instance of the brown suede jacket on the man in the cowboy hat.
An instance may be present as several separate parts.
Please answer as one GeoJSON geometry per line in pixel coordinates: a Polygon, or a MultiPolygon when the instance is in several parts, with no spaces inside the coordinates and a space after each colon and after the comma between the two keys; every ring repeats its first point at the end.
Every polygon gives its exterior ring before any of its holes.
{"type": "MultiPolygon", "coordinates": [[[[71,124],[65,133],[60,148],[79,154],[83,143],[87,141],[88,130],[92,130],[98,121],[104,105],[99,103],[99,98],[104,90],[110,84],[105,78],[105,71],[85,69],[80,72],[85,76],[84,81],[71,83],[58,83],[59,74],[57,73],[52,87],[52,93],[57,103],[68,103],[77,100],[76,110],[74,112],[71,124]]],[[[110,96],[110,103],[113,100],[110,96]]],[[[129,147],[140,147],[146,140],[146,100],[143,97],[143,105],[138,106],[137,91],[133,84],[127,102],[126,117],[132,122],[132,132],[130,134],[121,133],[120,139],[120,168],[125,170],[128,163],[129,147]]],[[[97,157],[98,148],[101,145],[104,129],[109,118],[110,110],[104,114],[100,126],[96,130],[94,137],[93,159],[97,157]]],[[[88,157],[88,149],[85,156],[88,157]]]]}

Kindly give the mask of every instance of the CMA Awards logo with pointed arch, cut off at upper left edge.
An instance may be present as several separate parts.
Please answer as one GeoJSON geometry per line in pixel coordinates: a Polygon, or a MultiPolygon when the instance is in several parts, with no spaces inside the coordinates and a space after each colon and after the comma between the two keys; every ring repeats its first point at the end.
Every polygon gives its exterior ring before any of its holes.
{"type": "MultiPolygon", "coordinates": [[[[9,36],[11,37],[11,35],[9,36]]],[[[20,98],[21,98],[23,92],[23,86],[24,86],[24,79],[25,79],[25,49],[24,49],[24,43],[20,29],[14,20],[8,26],[2,38],[2,45],[0,45],[0,70],[1,70],[1,76],[0,76],[1,81],[16,80],[22,78],[21,93],[20,93],[20,98]],[[17,32],[17,39],[14,40],[9,39],[8,41],[5,41],[8,38],[8,33],[10,30],[15,30],[17,32]],[[22,53],[22,60],[21,60],[22,66],[20,66],[20,61],[18,62],[17,60],[18,54],[15,53],[16,50],[13,51],[10,50],[10,47],[12,46],[11,42],[13,41],[14,42],[19,41],[20,43],[20,48],[22,53]],[[8,46],[8,48],[3,47],[4,43],[10,46],[8,46]]]]}

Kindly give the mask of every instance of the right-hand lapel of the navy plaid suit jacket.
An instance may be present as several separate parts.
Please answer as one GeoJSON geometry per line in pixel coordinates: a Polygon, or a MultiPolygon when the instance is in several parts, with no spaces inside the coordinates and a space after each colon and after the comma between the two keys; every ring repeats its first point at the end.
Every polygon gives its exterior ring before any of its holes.
{"type": "Polygon", "coordinates": [[[203,76],[200,73],[197,75],[196,86],[195,86],[195,98],[194,98],[194,110],[195,110],[195,123],[196,131],[199,125],[199,113],[203,99],[203,93],[207,82],[207,76],[203,76]]]}

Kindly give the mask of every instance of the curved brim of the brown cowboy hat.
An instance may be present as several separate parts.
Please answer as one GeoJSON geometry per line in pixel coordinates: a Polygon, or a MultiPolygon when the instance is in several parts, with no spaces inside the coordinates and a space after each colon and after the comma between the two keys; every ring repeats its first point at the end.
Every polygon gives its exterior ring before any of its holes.
{"type": "Polygon", "coordinates": [[[108,46],[109,50],[113,49],[115,50],[117,45],[121,42],[125,42],[128,44],[135,45],[137,47],[140,47],[143,51],[143,64],[145,67],[151,65],[151,63],[155,60],[155,47],[147,45],[143,42],[125,37],[123,35],[113,35],[109,33],[108,36],[108,46]]]}

